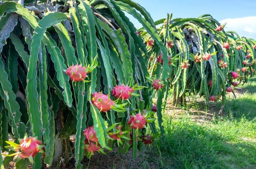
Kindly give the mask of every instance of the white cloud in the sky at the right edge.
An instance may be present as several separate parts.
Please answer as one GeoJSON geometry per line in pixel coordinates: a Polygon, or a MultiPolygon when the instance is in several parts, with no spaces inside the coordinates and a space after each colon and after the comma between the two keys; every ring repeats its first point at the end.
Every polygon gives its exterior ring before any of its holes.
{"type": "Polygon", "coordinates": [[[256,16],[244,18],[227,18],[220,23],[227,23],[225,30],[233,30],[240,36],[256,39],[256,16]]]}

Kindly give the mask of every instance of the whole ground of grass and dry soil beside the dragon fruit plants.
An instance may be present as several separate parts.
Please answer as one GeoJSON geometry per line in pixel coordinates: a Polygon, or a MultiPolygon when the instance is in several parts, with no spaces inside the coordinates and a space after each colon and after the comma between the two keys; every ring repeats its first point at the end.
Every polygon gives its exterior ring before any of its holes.
{"type": "Polygon", "coordinates": [[[89,169],[256,168],[256,78],[235,93],[237,99],[228,98],[221,116],[219,103],[206,110],[195,98],[183,108],[173,108],[169,100],[163,117],[165,141],[143,146],[138,159],[132,152],[95,154],[89,169]]]}

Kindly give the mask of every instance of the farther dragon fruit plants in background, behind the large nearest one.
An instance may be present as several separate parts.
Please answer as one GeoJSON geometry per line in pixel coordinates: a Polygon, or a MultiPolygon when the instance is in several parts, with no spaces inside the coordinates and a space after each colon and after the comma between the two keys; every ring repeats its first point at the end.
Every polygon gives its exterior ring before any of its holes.
{"type": "MultiPolygon", "coordinates": [[[[170,90],[174,91],[174,105],[183,105],[188,100],[185,97],[194,94],[204,97],[206,101],[221,100],[224,106],[226,86],[234,80],[238,81],[237,83],[246,83],[249,77],[255,75],[256,65],[252,61],[255,58],[253,47],[256,41],[239,38],[234,32],[225,32],[225,25],[220,25],[211,15],[185,20],[172,19],[172,15],[167,15],[167,18],[156,23],[159,24],[157,30],[161,40],[165,42],[167,53],[162,56],[159,55],[156,45],[148,47],[150,58],[146,61],[149,78],[163,82],[164,88],[153,92],[157,103],[161,104],[163,109],[168,95],[172,93],[170,90]],[[173,42],[172,48],[168,47],[168,42],[173,42]],[[173,62],[177,55],[178,61],[173,62]],[[243,65],[245,58],[253,68],[249,64],[243,65]],[[173,65],[169,65],[169,61],[173,65]],[[215,99],[210,96],[215,96],[215,99]]],[[[146,28],[141,28],[140,31],[145,32],[146,28]]],[[[144,33],[141,37],[145,42],[150,35],[144,33]]],[[[157,111],[159,113],[162,109],[158,108],[157,111]]],[[[162,120],[159,119],[158,122],[161,128],[162,120]]]]}

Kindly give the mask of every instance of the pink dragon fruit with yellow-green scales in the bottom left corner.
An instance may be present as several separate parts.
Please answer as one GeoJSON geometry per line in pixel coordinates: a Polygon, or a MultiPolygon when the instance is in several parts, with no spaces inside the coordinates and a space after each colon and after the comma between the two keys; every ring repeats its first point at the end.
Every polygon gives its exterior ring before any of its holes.
{"type": "Polygon", "coordinates": [[[16,162],[21,159],[29,159],[29,161],[33,164],[33,158],[37,153],[43,153],[43,145],[42,142],[37,140],[37,137],[28,137],[25,134],[23,139],[19,139],[20,144],[16,144],[12,141],[5,141],[10,146],[6,146],[6,148],[16,151],[16,153],[9,154],[8,156],[18,155],[16,158],[16,162]]]}

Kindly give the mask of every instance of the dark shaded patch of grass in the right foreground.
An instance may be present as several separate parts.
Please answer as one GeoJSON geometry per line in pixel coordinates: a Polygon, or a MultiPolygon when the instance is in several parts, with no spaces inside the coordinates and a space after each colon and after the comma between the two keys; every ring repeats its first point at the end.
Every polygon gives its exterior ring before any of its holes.
{"type": "Polygon", "coordinates": [[[217,130],[189,121],[171,125],[165,143],[159,143],[163,168],[254,168],[256,147],[246,141],[230,143],[217,130]]]}

